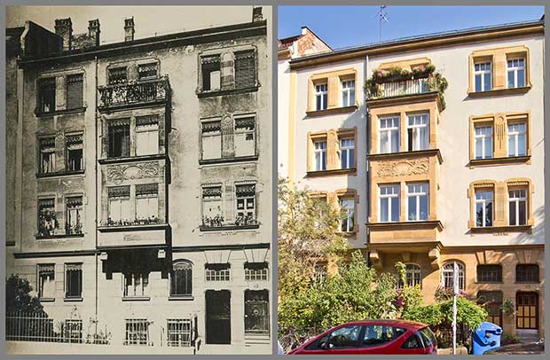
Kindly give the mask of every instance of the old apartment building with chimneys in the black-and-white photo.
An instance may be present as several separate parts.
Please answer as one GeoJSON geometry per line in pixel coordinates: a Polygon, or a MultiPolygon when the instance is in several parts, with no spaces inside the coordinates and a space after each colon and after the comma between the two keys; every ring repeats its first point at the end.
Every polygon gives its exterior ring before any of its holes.
{"type": "Polygon", "coordinates": [[[131,18],[99,45],[98,20],[83,35],[27,21],[7,273],[49,317],[120,348],[271,354],[267,28],[255,8],[134,39],[131,18]]]}

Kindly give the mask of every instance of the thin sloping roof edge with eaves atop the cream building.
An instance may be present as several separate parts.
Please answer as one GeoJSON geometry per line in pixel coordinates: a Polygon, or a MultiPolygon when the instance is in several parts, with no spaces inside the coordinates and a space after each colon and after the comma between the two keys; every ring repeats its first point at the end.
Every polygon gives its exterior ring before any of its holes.
{"type": "MultiPolygon", "coordinates": [[[[434,41],[443,41],[444,39],[458,38],[460,36],[467,35],[481,35],[487,33],[498,33],[507,30],[522,29],[526,27],[542,27],[544,32],[544,20],[529,20],[513,23],[505,23],[499,25],[491,25],[484,27],[469,27],[460,30],[450,30],[437,33],[431,33],[426,35],[414,35],[414,36],[405,36],[397,39],[392,39],[388,41],[383,41],[379,43],[367,43],[364,45],[344,47],[340,49],[335,49],[330,52],[323,52],[318,54],[313,54],[309,56],[304,56],[301,58],[291,60],[291,66],[293,64],[300,64],[306,62],[312,62],[315,59],[332,59],[337,56],[345,56],[351,54],[357,54],[357,56],[368,55],[369,52],[381,52],[384,50],[389,50],[390,48],[396,48],[399,45],[405,44],[420,44],[428,43],[434,41]]],[[[451,45],[450,42],[447,42],[447,45],[451,45]]]]}

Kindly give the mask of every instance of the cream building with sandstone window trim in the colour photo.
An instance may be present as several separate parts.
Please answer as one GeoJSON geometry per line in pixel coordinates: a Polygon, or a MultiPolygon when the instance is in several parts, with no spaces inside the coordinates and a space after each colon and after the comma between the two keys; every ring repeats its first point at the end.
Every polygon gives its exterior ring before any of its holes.
{"type": "Polygon", "coordinates": [[[287,67],[286,173],[355,209],[352,247],[377,270],[405,262],[407,284],[428,302],[452,286],[457,262],[460,288],[491,301],[490,321],[544,336],[544,21],[335,50],[287,67]]]}

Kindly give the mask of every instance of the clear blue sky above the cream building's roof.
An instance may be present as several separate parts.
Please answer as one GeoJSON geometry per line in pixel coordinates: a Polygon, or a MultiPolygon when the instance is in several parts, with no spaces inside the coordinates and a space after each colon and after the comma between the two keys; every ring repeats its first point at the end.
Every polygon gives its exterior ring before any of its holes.
{"type": "MultiPolygon", "coordinates": [[[[334,49],[379,40],[379,6],[279,6],[279,38],[310,27],[334,49]],[[326,21],[341,19],[342,21],[326,21]]],[[[468,27],[538,20],[544,6],[387,6],[382,41],[468,27]],[[434,21],[436,20],[436,21],[434,21]]]]}

